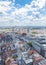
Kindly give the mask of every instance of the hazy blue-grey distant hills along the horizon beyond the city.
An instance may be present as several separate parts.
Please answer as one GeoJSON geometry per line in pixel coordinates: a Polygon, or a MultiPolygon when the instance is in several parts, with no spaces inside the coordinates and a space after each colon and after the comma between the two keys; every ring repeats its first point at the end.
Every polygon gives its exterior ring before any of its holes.
{"type": "Polygon", "coordinates": [[[27,28],[27,29],[46,29],[46,26],[3,26],[0,28],[27,28]]]}

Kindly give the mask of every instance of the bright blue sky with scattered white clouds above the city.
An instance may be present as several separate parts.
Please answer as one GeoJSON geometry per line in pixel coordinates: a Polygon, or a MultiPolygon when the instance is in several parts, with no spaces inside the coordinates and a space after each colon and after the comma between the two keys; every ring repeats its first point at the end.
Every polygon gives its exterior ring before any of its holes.
{"type": "Polygon", "coordinates": [[[0,0],[0,26],[46,26],[46,0],[0,0]]]}

